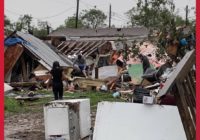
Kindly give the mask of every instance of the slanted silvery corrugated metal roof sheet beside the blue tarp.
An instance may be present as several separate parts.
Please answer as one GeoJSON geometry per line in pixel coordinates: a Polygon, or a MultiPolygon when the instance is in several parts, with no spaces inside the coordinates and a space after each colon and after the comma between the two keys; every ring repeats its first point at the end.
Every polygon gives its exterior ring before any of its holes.
{"type": "Polygon", "coordinates": [[[63,60],[53,49],[50,48],[42,40],[30,35],[28,33],[17,32],[18,36],[29,42],[28,44],[23,44],[31,53],[33,53],[37,58],[43,61],[43,65],[50,69],[54,61],[58,61],[61,66],[70,66],[72,63],[70,60],[63,60]],[[46,63],[46,65],[44,64],[46,63]]]}

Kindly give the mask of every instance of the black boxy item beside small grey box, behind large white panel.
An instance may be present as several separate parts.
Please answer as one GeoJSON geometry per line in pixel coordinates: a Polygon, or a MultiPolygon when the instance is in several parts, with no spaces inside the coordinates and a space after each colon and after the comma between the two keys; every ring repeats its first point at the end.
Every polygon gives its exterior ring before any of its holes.
{"type": "Polygon", "coordinates": [[[142,103],[143,96],[150,96],[150,91],[142,87],[136,87],[133,91],[133,102],[142,103]]]}

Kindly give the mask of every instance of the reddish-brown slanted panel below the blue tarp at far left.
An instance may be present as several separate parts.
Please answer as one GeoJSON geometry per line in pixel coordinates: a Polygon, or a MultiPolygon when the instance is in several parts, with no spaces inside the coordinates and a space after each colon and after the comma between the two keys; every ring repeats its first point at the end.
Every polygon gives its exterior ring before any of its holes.
{"type": "Polygon", "coordinates": [[[7,78],[8,74],[13,69],[19,57],[23,53],[24,48],[21,45],[10,46],[4,52],[4,77],[7,78]]]}

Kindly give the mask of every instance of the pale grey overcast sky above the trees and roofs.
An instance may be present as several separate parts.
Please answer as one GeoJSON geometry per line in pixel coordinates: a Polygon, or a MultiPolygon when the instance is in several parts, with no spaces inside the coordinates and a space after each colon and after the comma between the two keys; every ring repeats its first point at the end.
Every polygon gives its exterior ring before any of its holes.
{"type": "MultiPolygon", "coordinates": [[[[80,0],[79,11],[91,9],[96,5],[108,16],[109,5],[111,4],[111,24],[116,27],[123,27],[128,21],[124,13],[135,6],[136,2],[137,0],[80,0]]],[[[68,16],[75,14],[77,0],[5,0],[4,3],[5,15],[10,20],[16,21],[20,15],[29,14],[33,17],[34,25],[38,20],[48,21],[55,29],[64,24],[64,20],[68,16]]],[[[189,8],[196,7],[195,0],[174,0],[174,3],[179,15],[183,17],[185,17],[184,9],[186,5],[189,8]]],[[[190,10],[189,17],[195,18],[194,10],[190,10]]],[[[106,23],[108,23],[108,19],[106,23]]]]}

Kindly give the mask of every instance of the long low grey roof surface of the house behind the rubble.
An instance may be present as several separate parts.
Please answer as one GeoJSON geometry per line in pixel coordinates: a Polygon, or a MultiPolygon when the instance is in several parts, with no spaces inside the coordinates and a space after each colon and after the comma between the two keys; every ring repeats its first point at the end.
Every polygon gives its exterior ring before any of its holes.
{"type": "Polygon", "coordinates": [[[59,29],[51,34],[50,37],[67,36],[67,37],[120,37],[120,36],[144,36],[149,31],[144,27],[134,28],[101,28],[101,29],[59,29]]]}

